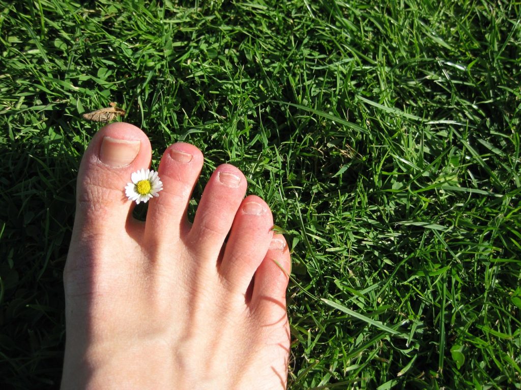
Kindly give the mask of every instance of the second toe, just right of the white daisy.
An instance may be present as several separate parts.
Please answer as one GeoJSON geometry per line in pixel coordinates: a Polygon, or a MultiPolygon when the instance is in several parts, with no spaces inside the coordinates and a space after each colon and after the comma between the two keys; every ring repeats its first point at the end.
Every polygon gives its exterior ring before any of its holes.
{"type": "Polygon", "coordinates": [[[163,191],[148,206],[148,242],[171,242],[189,230],[188,203],[202,167],[203,153],[195,146],[178,142],[167,148],[157,170],[163,191]]]}

